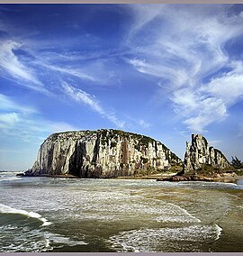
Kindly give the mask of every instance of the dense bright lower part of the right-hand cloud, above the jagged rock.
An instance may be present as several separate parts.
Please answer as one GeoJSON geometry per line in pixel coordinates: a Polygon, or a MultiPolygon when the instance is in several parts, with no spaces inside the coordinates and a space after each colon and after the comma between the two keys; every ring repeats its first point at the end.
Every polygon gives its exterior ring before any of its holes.
{"type": "Polygon", "coordinates": [[[208,124],[224,120],[229,115],[229,106],[242,99],[242,63],[235,64],[234,69],[220,77],[212,78],[196,92],[193,92],[192,88],[187,89],[185,94],[175,91],[173,101],[184,114],[184,123],[191,130],[202,132],[208,124]]]}

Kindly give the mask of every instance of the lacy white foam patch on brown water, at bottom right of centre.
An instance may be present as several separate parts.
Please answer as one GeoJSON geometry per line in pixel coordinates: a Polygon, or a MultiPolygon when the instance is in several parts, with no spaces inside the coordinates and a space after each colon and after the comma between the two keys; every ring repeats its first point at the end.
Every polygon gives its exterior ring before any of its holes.
{"type": "Polygon", "coordinates": [[[198,244],[218,240],[221,231],[222,229],[217,224],[198,224],[180,228],[139,229],[121,232],[110,237],[109,241],[112,242],[112,248],[118,252],[153,252],[157,251],[158,247],[160,247],[159,251],[163,251],[166,250],[163,245],[165,244],[166,246],[168,243],[175,248],[178,244],[180,246],[183,246],[183,244],[188,246],[190,244],[195,251],[200,251],[200,248],[197,248],[198,244]]]}

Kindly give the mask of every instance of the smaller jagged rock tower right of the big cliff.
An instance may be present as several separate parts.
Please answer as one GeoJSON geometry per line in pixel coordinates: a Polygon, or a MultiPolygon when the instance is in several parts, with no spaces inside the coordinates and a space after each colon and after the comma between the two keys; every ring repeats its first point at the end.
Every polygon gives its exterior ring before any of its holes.
{"type": "Polygon", "coordinates": [[[206,165],[216,169],[226,169],[230,166],[221,151],[209,147],[202,135],[192,134],[192,144],[186,142],[184,171],[203,169],[206,165]]]}

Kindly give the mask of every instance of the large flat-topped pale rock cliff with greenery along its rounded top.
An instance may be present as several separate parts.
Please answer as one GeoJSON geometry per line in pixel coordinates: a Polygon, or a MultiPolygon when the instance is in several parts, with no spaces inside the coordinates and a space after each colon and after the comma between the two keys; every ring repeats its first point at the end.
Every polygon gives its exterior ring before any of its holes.
{"type": "Polygon", "coordinates": [[[54,133],[40,146],[26,175],[71,174],[82,178],[132,176],[170,169],[181,160],[161,142],[136,133],[98,130],[54,133]]]}

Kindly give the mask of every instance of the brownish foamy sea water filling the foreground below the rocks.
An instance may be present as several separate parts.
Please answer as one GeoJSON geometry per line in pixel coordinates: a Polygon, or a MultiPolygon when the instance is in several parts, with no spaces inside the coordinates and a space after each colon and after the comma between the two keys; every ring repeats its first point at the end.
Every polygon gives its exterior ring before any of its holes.
{"type": "Polygon", "coordinates": [[[243,180],[0,173],[0,251],[243,251],[243,180]]]}

